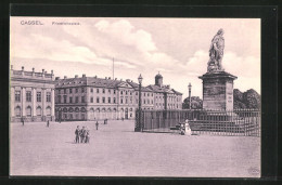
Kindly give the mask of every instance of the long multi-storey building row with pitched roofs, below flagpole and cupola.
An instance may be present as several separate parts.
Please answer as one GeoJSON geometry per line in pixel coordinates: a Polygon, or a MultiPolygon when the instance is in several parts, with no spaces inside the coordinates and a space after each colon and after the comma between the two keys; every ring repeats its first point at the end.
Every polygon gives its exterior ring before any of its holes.
{"type": "MultiPolygon", "coordinates": [[[[142,109],[181,109],[181,93],[168,85],[159,85],[162,91],[152,87],[141,87],[142,109]],[[161,96],[162,103],[158,101],[161,96]]],[[[82,75],[55,80],[57,120],[134,119],[138,105],[139,84],[129,79],[123,81],[82,75]]]]}

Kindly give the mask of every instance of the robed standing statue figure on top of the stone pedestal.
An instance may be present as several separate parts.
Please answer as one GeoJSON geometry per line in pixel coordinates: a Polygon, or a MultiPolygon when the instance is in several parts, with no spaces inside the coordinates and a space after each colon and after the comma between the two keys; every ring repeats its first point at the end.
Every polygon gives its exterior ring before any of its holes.
{"type": "Polygon", "coordinates": [[[207,64],[207,71],[222,71],[221,61],[223,57],[225,50],[225,38],[223,29],[219,29],[217,35],[213,38],[210,49],[209,49],[209,61],[207,64]]]}

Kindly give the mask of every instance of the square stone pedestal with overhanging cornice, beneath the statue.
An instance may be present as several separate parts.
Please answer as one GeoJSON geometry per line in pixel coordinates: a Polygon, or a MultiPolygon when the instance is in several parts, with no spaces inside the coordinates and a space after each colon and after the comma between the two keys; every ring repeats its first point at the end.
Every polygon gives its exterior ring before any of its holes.
{"type": "Polygon", "coordinates": [[[233,109],[233,80],[238,77],[226,71],[206,72],[203,80],[204,109],[233,109]]]}

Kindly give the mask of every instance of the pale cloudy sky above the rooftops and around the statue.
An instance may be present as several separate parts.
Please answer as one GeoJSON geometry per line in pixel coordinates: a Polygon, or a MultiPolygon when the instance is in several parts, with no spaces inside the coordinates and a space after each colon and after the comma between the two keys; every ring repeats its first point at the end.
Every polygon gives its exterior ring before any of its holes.
{"type": "Polygon", "coordinates": [[[225,71],[238,77],[234,89],[260,94],[259,18],[10,17],[10,64],[15,70],[51,72],[55,77],[131,79],[164,84],[202,98],[200,76],[207,71],[208,50],[225,30],[225,71]],[[42,25],[27,25],[40,21],[42,25]],[[79,23],[59,25],[57,23],[79,23]]]}

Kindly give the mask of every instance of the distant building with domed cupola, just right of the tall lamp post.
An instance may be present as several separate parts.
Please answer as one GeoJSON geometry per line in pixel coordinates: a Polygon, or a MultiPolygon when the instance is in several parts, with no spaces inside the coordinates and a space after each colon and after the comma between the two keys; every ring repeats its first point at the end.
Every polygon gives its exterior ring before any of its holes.
{"type": "Polygon", "coordinates": [[[163,84],[163,76],[155,76],[155,84],[148,87],[154,92],[154,109],[182,109],[182,93],[163,84]]]}

